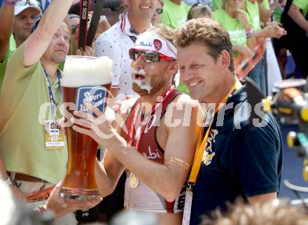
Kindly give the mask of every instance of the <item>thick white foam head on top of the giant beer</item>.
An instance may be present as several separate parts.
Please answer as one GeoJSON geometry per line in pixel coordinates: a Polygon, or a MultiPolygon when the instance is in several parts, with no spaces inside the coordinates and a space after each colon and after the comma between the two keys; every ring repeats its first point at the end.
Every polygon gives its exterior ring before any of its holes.
{"type": "Polygon", "coordinates": [[[62,86],[99,86],[111,83],[113,61],[103,57],[67,56],[62,74],[62,86]]]}

